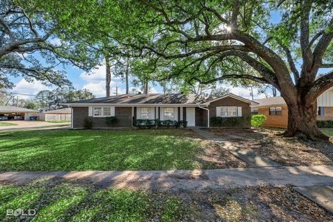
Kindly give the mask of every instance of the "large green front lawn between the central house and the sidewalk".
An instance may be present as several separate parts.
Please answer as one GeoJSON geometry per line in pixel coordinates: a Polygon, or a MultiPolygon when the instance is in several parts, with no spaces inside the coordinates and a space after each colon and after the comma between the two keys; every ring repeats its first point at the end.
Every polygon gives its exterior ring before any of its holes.
{"type": "Polygon", "coordinates": [[[191,130],[31,130],[0,133],[0,171],[210,168],[191,130]]]}

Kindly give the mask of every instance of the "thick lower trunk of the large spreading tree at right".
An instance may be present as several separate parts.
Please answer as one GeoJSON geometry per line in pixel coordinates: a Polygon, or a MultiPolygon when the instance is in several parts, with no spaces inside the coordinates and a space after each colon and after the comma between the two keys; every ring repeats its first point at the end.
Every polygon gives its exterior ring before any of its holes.
{"type": "Polygon", "coordinates": [[[305,104],[287,102],[288,128],[282,135],[286,137],[300,137],[310,140],[327,140],[329,137],[321,133],[316,124],[316,103],[305,104]]]}

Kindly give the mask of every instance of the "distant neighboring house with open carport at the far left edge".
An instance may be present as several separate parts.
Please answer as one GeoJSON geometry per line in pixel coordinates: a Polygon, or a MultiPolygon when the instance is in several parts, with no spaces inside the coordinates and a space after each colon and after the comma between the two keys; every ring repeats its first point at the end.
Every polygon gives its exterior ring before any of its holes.
{"type": "Polygon", "coordinates": [[[10,105],[0,105],[0,116],[3,120],[21,119],[29,120],[30,117],[37,117],[37,111],[10,105]]]}

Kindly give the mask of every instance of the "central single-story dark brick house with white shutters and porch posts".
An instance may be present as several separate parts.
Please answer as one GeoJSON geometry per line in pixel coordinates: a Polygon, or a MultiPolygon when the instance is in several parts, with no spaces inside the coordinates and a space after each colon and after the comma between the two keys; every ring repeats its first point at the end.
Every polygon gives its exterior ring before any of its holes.
{"type": "Polygon", "coordinates": [[[253,101],[226,94],[198,102],[193,94],[123,94],[65,103],[72,109],[72,128],[83,128],[92,117],[93,128],[109,128],[105,117],[117,117],[117,128],[131,128],[137,119],[187,121],[187,126],[210,127],[210,117],[250,116],[253,101]]]}

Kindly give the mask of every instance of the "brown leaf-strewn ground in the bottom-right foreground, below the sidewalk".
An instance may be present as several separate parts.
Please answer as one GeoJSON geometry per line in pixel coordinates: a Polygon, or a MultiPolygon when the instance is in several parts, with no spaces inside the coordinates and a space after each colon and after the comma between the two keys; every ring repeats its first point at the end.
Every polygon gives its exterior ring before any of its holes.
{"type": "Polygon", "coordinates": [[[191,221],[332,221],[333,215],[291,187],[247,187],[179,194],[191,221]]]}

